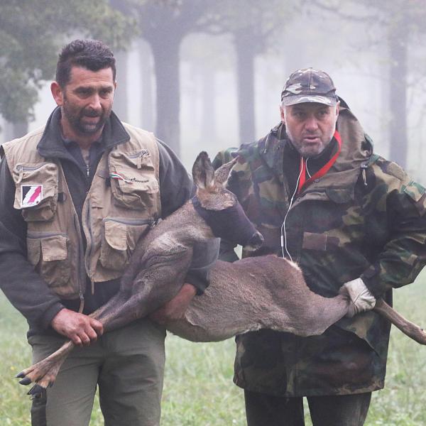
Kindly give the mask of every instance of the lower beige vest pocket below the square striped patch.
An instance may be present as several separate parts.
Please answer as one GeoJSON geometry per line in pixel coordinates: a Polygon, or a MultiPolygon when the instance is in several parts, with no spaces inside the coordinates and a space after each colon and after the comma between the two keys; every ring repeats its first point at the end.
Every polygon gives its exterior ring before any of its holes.
{"type": "MultiPolygon", "coordinates": [[[[71,262],[68,256],[69,239],[65,234],[28,232],[28,261],[55,293],[67,297],[70,290],[71,262]]],[[[77,289],[78,294],[78,289],[77,289]]]]}

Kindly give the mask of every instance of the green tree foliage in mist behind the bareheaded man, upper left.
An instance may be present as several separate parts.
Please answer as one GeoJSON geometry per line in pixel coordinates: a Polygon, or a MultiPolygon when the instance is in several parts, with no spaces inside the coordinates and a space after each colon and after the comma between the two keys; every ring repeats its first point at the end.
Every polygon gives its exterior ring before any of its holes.
{"type": "Polygon", "coordinates": [[[104,40],[124,48],[134,21],[107,0],[0,2],[0,114],[8,121],[33,116],[38,89],[55,72],[60,46],[70,37],[104,40]]]}

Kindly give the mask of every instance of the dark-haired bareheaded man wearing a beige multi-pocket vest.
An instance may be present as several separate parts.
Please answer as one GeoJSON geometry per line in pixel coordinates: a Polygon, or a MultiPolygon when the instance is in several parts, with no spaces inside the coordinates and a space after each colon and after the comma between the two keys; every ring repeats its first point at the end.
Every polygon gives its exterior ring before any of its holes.
{"type": "MultiPolygon", "coordinates": [[[[34,362],[64,339],[77,345],[55,386],[33,395],[33,426],[89,425],[97,386],[105,425],[160,421],[165,329],[144,318],[102,335],[87,315],[114,296],[136,241],[190,198],[192,181],[168,146],[118,119],[115,89],[111,50],[72,41],[51,84],[58,107],[2,146],[1,288],[28,321],[34,362]]],[[[217,257],[204,249],[159,317],[180,317],[204,290],[217,257]]]]}

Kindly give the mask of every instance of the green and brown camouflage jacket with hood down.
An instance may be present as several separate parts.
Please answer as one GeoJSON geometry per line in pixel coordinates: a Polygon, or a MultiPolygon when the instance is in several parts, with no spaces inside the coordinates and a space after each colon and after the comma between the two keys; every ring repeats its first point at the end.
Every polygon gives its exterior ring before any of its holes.
{"type": "MultiPolygon", "coordinates": [[[[282,124],[256,143],[219,153],[214,166],[238,151],[229,189],[265,237],[267,251],[282,252],[280,229],[288,212],[288,253],[311,290],[332,297],[361,276],[376,297],[391,302],[391,289],[413,282],[426,263],[425,188],[373,154],[349,109],[341,109],[337,129],[342,151],[336,163],[296,195],[290,210],[294,186],[283,170],[289,142],[281,137],[282,124]]],[[[236,339],[234,381],[284,396],[374,391],[384,386],[389,331],[386,320],[365,312],[317,337],[247,333],[236,339]]]]}

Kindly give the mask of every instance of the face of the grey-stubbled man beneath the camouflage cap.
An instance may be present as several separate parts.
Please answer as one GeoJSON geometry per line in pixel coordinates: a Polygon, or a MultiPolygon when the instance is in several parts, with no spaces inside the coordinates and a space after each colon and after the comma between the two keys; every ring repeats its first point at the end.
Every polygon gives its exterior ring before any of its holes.
{"type": "Polygon", "coordinates": [[[324,151],[336,130],[339,104],[329,107],[315,102],[281,107],[281,119],[293,146],[303,157],[324,151]]]}

